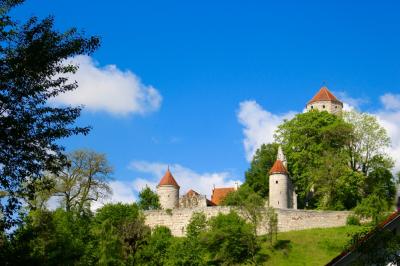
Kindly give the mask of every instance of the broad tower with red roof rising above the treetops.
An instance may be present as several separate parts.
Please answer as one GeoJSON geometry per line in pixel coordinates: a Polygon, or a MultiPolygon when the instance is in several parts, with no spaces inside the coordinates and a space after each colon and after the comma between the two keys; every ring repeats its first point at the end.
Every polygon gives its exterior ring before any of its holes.
{"type": "Polygon", "coordinates": [[[327,111],[331,114],[340,114],[343,110],[343,103],[333,95],[327,87],[323,86],[317,94],[307,103],[307,111],[327,111]]]}

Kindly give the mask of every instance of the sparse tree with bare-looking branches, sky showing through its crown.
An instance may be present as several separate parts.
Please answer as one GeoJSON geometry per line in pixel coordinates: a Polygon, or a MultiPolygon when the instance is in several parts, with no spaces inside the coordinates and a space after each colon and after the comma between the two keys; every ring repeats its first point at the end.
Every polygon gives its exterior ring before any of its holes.
{"type": "Polygon", "coordinates": [[[66,211],[83,213],[90,203],[112,193],[108,181],[112,168],[104,154],[77,150],[68,154],[68,165],[58,174],[51,175],[55,195],[62,198],[66,211]]]}

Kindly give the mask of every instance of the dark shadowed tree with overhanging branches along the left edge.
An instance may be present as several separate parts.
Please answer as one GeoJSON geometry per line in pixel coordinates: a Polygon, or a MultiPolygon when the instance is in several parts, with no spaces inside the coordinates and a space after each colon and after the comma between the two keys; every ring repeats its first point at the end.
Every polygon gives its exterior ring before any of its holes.
{"type": "Polygon", "coordinates": [[[53,29],[52,17],[30,18],[19,25],[9,11],[21,0],[0,2],[0,201],[4,225],[15,222],[21,206],[19,195],[33,195],[30,185],[44,171],[57,172],[64,163],[58,140],[87,134],[88,127],[74,126],[80,107],[52,107],[53,97],[77,88],[68,74],[77,66],[65,59],[90,54],[99,46],[75,28],[53,29]]]}

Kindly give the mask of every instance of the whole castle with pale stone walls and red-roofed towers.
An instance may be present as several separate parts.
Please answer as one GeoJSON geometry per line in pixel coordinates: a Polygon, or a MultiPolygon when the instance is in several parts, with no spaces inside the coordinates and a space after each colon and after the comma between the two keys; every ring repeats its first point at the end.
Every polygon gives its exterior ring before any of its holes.
{"type": "MultiPolygon", "coordinates": [[[[343,110],[343,103],[323,86],[306,104],[306,111],[313,110],[339,115],[343,110]]],[[[192,189],[180,196],[180,186],[168,168],[157,185],[162,210],[145,211],[146,224],[150,227],[164,225],[171,229],[173,235],[183,236],[194,212],[203,212],[207,218],[218,213],[228,213],[233,207],[220,206],[221,202],[228,193],[237,189],[237,185],[229,188],[214,187],[211,199],[192,189]]],[[[275,208],[278,214],[279,231],[342,226],[350,214],[348,211],[298,210],[297,194],[281,147],[269,171],[268,204],[275,208]]],[[[265,232],[265,227],[258,228],[257,231],[262,234],[265,232]]]]}

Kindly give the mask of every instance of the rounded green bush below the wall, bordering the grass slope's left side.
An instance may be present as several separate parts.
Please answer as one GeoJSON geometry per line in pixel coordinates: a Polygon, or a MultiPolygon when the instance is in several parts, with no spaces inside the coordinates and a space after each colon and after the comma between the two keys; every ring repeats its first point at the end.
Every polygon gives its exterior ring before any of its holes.
{"type": "Polygon", "coordinates": [[[209,221],[209,230],[201,235],[211,261],[234,265],[254,260],[259,250],[253,226],[237,213],[219,214],[209,221]]]}

